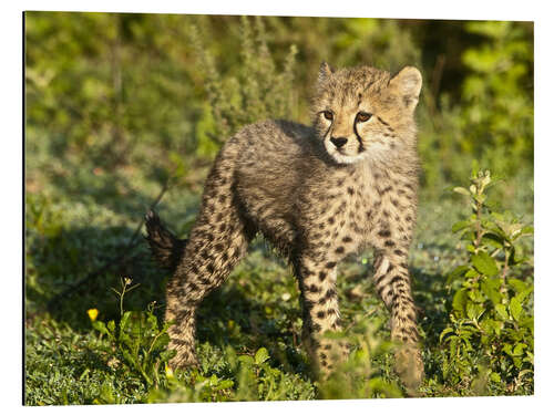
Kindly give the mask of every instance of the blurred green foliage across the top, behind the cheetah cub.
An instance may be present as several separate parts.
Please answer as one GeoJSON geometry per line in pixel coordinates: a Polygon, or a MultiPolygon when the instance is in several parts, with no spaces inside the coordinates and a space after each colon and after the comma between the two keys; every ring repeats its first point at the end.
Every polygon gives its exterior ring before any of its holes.
{"type": "Polygon", "coordinates": [[[47,139],[62,170],[86,159],[163,180],[245,124],[306,123],[322,60],[422,70],[424,186],[463,179],[471,159],[532,169],[532,23],[28,12],[25,41],[28,148],[47,139]]]}

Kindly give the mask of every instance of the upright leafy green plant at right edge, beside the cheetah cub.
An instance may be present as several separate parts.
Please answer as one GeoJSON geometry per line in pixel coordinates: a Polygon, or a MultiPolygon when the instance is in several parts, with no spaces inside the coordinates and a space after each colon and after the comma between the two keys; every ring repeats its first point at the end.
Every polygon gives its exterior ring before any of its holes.
{"type": "MultiPolygon", "coordinates": [[[[533,390],[533,281],[531,259],[521,239],[533,234],[510,212],[488,205],[490,172],[474,170],[468,188],[472,215],[452,226],[465,243],[466,261],[449,276],[454,288],[443,375],[470,384],[479,367],[505,392],[533,390]]],[[[488,391],[478,391],[486,393],[488,391]]]]}

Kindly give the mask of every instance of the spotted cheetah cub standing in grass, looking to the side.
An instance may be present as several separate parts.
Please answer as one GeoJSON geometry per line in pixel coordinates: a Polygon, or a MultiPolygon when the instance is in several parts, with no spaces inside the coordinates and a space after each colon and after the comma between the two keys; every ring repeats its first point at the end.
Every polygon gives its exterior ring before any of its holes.
{"type": "Polygon", "coordinates": [[[312,126],[266,121],[246,126],[220,149],[207,177],[188,240],[146,215],[154,257],[173,272],[166,320],[173,367],[196,364],[195,313],[261,232],[293,264],[300,288],[304,338],[324,375],[346,344],[338,330],[337,264],[365,247],[376,252],[376,291],[391,312],[397,371],[409,387],[423,375],[408,250],[417,210],[413,112],[421,74],[391,76],[369,66],[332,71],[322,63],[312,126]]]}

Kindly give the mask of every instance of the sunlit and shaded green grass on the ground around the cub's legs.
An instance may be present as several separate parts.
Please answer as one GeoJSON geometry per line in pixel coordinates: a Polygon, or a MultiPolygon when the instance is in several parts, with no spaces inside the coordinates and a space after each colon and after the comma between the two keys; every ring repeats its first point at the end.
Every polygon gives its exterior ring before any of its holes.
{"type": "MultiPolygon", "coordinates": [[[[375,353],[369,377],[373,383],[368,395],[360,396],[366,390],[353,384],[348,388],[332,382],[318,385],[311,380],[300,342],[296,280],[290,268],[259,238],[229,280],[199,309],[199,369],[167,375],[161,367],[161,383],[148,385],[140,373],[117,359],[114,343],[93,330],[86,313],[98,309],[98,320],[117,321],[120,299],[111,288],[119,288],[121,278],[131,278],[140,287],[125,294],[124,309],[144,311],[155,302],[153,312],[162,317],[167,273],[151,261],[145,243],[138,245],[127,260],[58,298],[53,307],[48,304],[69,284],[121,253],[160,191],[160,184],[138,168],[105,173],[82,160],[62,164],[43,155],[44,151],[28,147],[27,405],[407,395],[392,371],[387,346],[388,311],[373,294],[369,278],[371,253],[341,264],[338,280],[345,325],[352,328],[362,320],[377,328],[371,334],[375,353]],[[263,357],[264,350],[267,359],[263,357]]],[[[198,175],[202,174],[201,170],[198,175]]],[[[521,215],[526,222],[533,221],[532,183],[532,178],[521,175],[501,184],[495,195],[504,208],[521,215]]],[[[198,185],[175,186],[157,208],[181,235],[194,219],[201,189],[198,185]]],[[[468,216],[468,210],[465,203],[452,197],[448,189],[423,190],[420,197],[410,257],[414,297],[421,309],[427,374],[420,395],[529,394],[529,390],[510,386],[507,381],[483,386],[475,377],[475,382],[460,385],[442,374],[447,347],[439,342],[439,335],[449,323],[453,295],[447,277],[465,258],[451,226],[468,216]]],[[[532,242],[526,242],[531,252],[532,242]]],[[[479,353],[475,352],[475,359],[479,353]]]]}

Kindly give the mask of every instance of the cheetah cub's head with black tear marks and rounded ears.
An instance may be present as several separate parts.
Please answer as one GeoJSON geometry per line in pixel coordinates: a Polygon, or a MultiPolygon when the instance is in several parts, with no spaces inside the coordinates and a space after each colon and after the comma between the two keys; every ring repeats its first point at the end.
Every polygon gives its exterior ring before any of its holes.
{"type": "Polygon", "coordinates": [[[413,111],[421,74],[407,66],[397,75],[370,66],[319,69],[312,103],[314,126],[339,164],[390,162],[416,147],[413,111]]]}

